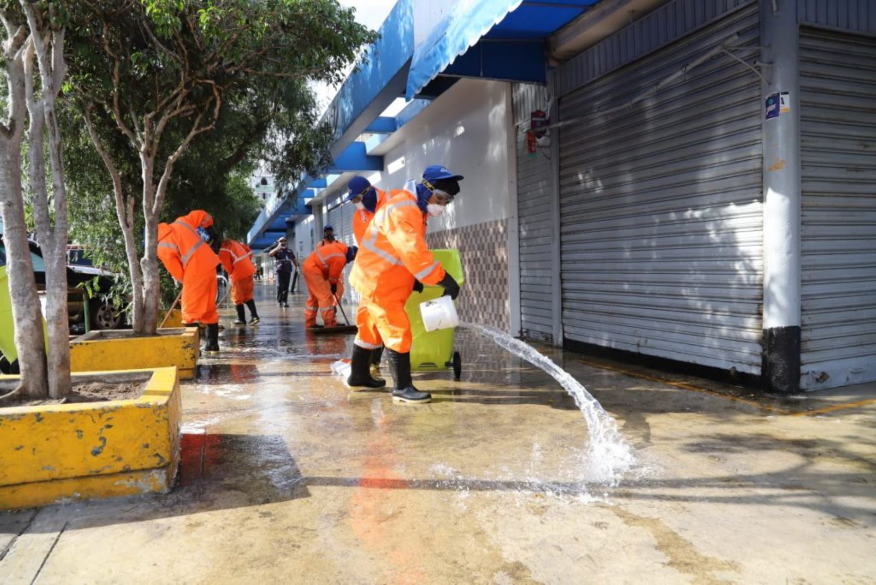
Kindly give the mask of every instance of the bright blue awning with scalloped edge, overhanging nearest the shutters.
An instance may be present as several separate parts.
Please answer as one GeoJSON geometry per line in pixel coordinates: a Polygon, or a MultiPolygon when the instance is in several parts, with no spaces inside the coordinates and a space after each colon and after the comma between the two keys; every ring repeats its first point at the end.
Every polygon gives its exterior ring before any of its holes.
{"type": "Polygon", "coordinates": [[[462,0],[414,49],[407,99],[442,74],[545,82],[544,39],[598,1],[462,0]]]}

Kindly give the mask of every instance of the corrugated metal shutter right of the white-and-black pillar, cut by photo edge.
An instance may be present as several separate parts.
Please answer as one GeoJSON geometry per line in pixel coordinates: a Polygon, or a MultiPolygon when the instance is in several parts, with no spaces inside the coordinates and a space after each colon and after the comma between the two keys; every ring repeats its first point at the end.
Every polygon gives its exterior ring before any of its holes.
{"type": "Polygon", "coordinates": [[[876,380],[876,39],[802,28],[803,389],[876,380]]]}

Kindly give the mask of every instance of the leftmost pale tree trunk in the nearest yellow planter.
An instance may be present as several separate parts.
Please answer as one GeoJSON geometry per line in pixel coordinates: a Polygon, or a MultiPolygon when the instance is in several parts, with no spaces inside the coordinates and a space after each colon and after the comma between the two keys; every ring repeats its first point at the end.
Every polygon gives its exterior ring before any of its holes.
{"type": "Polygon", "coordinates": [[[48,396],[43,316],[33,275],[25,227],[21,187],[21,146],[25,125],[25,70],[21,54],[6,60],[11,112],[10,125],[0,131],[0,206],[4,222],[6,274],[15,322],[15,348],[21,382],[16,394],[48,396]]]}

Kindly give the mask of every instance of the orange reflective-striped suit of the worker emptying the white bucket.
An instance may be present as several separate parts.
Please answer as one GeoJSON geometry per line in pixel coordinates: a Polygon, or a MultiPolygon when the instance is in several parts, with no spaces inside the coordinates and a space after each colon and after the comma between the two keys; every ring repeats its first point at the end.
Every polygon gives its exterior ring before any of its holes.
{"type": "Polygon", "coordinates": [[[398,353],[411,351],[411,323],[405,303],[413,280],[435,285],[444,278],[441,263],[426,244],[426,215],[417,197],[392,191],[389,200],[365,229],[350,283],[362,296],[356,316],[356,345],[385,345],[398,353]]]}

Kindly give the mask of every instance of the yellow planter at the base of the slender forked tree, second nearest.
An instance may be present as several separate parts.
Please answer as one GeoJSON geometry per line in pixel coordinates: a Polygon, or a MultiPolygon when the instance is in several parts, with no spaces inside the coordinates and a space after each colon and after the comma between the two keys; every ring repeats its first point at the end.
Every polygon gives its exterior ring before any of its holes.
{"type": "Polygon", "coordinates": [[[119,330],[90,332],[70,343],[70,367],[74,372],[176,367],[181,380],[191,380],[198,367],[199,339],[197,327],[159,329],[149,337],[119,330]]]}

